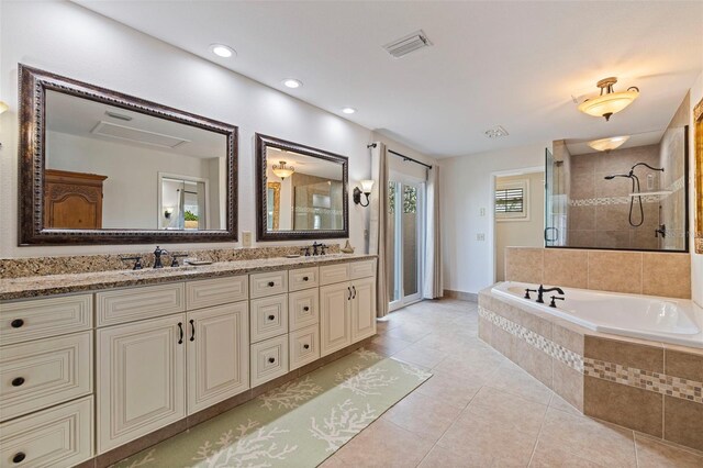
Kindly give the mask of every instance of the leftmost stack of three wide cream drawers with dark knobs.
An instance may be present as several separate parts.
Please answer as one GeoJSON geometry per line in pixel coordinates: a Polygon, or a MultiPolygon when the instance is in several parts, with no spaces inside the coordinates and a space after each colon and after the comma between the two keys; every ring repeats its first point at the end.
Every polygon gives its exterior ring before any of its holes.
{"type": "Polygon", "coordinates": [[[0,466],[93,456],[92,294],[0,303],[0,466]]]}

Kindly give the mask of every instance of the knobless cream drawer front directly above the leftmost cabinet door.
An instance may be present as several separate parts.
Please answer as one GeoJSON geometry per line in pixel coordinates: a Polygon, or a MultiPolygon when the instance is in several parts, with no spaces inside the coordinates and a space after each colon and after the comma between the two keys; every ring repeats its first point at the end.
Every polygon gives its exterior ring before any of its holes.
{"type": "Polygon", "coordinates": [[[182,282],[96,293],[98,326],[150,319],[186,310],[182,282]]]}

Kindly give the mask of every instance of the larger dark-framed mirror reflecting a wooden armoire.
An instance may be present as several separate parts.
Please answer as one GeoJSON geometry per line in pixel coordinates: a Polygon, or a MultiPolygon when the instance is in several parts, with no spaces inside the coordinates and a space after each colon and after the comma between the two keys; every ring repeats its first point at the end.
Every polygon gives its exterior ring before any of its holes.
{"type": "Polygon", "coordinates": [[[236,241],[237,127],[20,66],[21,244],[236,241]]]}

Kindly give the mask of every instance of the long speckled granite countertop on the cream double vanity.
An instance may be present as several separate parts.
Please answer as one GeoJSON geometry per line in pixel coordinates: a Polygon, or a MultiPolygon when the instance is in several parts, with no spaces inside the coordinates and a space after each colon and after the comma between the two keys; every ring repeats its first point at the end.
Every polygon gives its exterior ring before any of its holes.
{"type": "Polygon", "coordinates": [[[0,300],[38,298],[69,292],[157,285],[163,282],[207,279],[250,272],[295,269],[306,266],[332,265],[376,258],[376,255],[328,254],[316,257],[259,258],[252,260],[216,261],[211,265],[181,266],[163,269],[113,270],[48,276],[27,276],[0,279],[0,300]]]}

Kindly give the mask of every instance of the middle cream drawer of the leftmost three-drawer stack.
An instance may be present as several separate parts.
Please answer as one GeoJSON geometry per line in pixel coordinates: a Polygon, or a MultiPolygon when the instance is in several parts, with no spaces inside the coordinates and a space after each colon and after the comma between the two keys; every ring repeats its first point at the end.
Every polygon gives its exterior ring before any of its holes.
{"type": "Polygon", "coordinates": [[[92,332],[8,346],[0,354],[0,419],[92,391],[92,332]]]}

